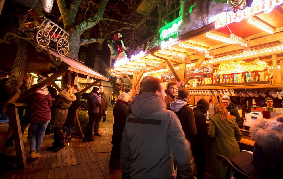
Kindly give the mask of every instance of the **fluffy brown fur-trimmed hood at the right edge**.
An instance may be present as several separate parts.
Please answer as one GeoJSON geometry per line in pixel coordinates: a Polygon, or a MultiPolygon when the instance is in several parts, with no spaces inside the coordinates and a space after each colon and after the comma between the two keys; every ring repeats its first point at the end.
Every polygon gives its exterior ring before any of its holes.
{"type": "Polygon", "coordinates": [[[252,139],[263,149],[283,152],[283,123],[259,119],[250,128],[252,139]]]}

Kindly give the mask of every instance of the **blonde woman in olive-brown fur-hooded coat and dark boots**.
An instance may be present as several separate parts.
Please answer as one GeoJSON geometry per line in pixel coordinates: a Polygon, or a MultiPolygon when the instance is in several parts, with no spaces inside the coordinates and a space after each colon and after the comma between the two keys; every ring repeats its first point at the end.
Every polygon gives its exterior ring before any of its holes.
{"type": "Polygon", "coordinates": [[[47,147],[47,150],[57,152],[65,147],[60,127],[65,124],[68,115],[68,108],[76,99],[77,98],[76,95],[73,94],[72,87],[70,85],[64,85],[64,90],[59,92],[53,102],[50,125],[54,131],[54,142],[52,143],[52,147],[47,147]]]}

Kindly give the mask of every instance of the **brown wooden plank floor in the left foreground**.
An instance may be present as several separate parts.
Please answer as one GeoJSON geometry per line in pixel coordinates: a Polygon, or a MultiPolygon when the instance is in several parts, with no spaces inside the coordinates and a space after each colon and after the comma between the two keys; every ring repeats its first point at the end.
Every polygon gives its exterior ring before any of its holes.
{"type": "Polygon", "coordinates": [[[72,138],[66,147],[58,152],[47,151],[52,145],[53,137],[45,139],[41,145],[40,159],[29,158],[29,146],[25,147],[28,167],[26,169],[2,168],[2,179],[100,179],[121,178],[121,169],[109,167],[112,128],[100,128],[102,137],[95,136],[93,142],[82,142],[72,138]]]}

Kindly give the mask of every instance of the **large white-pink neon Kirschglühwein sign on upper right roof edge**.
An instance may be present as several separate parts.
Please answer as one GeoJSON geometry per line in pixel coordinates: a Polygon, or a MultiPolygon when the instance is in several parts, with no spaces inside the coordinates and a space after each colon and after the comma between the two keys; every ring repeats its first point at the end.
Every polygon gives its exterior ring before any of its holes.
{"type": "Polygon", "coordinates": [[[276,5],[283,3],[283,0],[254,0],[251,7],[238,10],[236,13],[226,12],[217,15],[215,29],[226,26],[232,22],[240,22],[244,18],[250,17],[259,12],[270,13],[276,5]]]}

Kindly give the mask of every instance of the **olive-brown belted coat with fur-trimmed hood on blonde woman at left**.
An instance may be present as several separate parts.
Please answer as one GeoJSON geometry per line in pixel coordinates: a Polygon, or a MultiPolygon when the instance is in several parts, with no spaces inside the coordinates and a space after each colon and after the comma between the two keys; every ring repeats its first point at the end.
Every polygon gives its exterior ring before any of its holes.
{"type": "Polygon", "coordinates": [[[50,125],[53,127],[62,127],[68,115],[68,108],[71,106],[72,102],[77,98],[74,94],[69,95],[66,90],[62,90],[57,95],[53,102],[50,125]]]}

